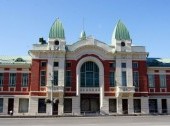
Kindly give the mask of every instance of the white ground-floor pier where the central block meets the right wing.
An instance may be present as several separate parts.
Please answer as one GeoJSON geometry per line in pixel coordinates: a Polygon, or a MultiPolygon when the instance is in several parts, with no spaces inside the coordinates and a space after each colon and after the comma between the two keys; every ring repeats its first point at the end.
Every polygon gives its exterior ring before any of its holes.
{"type": "Polygon", "coordinates": [[[149,114],[148,97],[141,97],[141,114],[149,114]]]}

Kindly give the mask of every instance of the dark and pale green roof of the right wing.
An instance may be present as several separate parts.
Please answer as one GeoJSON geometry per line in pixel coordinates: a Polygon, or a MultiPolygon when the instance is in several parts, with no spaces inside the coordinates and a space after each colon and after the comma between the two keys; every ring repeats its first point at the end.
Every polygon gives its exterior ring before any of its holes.
{"type": "Polygon", "coordinates": [[[170,59],[168,58],[147,58],[149,67],[170,67],[170,59]]]}

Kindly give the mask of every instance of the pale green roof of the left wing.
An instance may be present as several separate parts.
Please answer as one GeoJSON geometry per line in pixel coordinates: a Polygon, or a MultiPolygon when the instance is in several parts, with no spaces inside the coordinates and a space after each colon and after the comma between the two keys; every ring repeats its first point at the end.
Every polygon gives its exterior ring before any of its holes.
{"type": "Polygon", "coordinates": [[[30,56],[0,56],[0,65],[31,64],[30,56]]]}

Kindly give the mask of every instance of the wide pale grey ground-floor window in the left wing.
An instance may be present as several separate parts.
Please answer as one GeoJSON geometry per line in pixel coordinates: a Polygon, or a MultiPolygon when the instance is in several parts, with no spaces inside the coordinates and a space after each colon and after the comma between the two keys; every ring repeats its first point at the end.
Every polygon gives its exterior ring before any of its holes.
{"type": "Polygon", "coordinates": [[[19,99],[19,113],[28,113],[29,99],[19,99]]]}

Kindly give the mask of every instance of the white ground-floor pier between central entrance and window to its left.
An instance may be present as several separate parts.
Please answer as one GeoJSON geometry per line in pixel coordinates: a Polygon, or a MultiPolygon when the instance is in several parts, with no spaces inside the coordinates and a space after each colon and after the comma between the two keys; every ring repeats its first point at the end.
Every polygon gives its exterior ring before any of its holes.
{"type": "Polygon", "coordinates": [[[72,113],[80,115],[80,95],[72,98],[72,113]]]}

